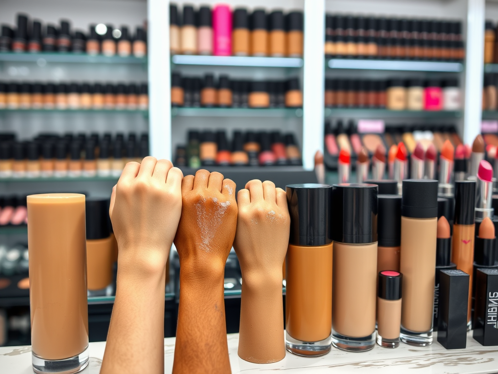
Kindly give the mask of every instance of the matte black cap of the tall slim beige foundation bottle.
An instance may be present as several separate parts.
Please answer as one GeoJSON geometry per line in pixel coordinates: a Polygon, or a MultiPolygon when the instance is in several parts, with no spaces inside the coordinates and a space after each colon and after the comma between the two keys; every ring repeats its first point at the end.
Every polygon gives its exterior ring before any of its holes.
{"type": "Polygon", "coordinates": [[[437,217],[438,181],[407,179],[402,186],[401,215],[409,218],[437,217]]]}

